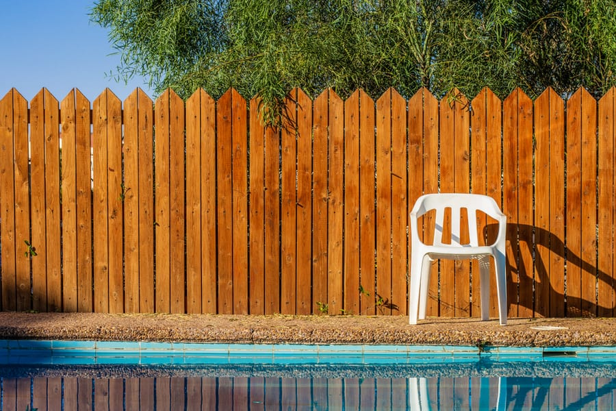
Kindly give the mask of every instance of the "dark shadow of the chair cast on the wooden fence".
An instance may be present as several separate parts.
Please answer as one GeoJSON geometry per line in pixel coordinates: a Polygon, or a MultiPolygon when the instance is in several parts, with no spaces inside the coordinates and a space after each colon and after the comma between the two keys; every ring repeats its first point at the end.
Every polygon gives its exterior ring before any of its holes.
{"type": "MultiPolygon", "coordinates": [[[[485,226],[485,235],[488,241],[496,238],[498,232],[497,224],[487,224],[485,226]]],[[[595,261],[584,260],[578,253],[572,249],[567,248],[565,242],[556,236],[552,232],[540,227],[534,227],[532,225],[525,224],[508,224],[506,232],[507,240],[507,282],[508,288],[510,284],[515,284],[518,281],[520,284],[523,281],[532,281],[532,286],[526,285],[526,290],[532,291],[532,296],[522,295],[519,293],[517,303],[519,306],[524,306],[528,310],[535,313],[538,316],[612,316],[614,309],[616,308],[616,302],[611,301],[611,306],[600,305],[600,301],[597,299],[591,301],[579,296],[571,295],[571,293],[563,293],[561,290],[556,290],[552,286],[550,281],[550,275],[548,273],[549,262],[544,261],[544,255],[546,253],[538,252],[537,247],[543,247],[547,253],[555,253],[558,258],[566,261],[565,273],[572,272],[572,267],[576,267],[582,272],[591,273],[598,282],[604,282],[611,290],[616,289],[616,284],[610,273],[606,273],[600,270],[595,261]],[[520,247],[525,247],[530,252],[519,253],[520,247]],[[511,249],[513,248],[513,250],[511,249]],[[511,251],[517,253],[517,264],[511,264],[509,256],[511,251]],[[522,255],[524,254],[524,256],[522,255]],[[526,260],[524,260],[526,258],[526,260]],[[528,258],[532,259],[530,266],[532,271],[526,272],[528,267],[528,258]],[[517,265],[517,269],[516,266],[517,265]],[[565,295],[567,294],[567,295],[565,295]],[[543,299],[548,298],[549,301],[543,299]],[[541,299],[538,303],[537,300],[541,299]],[[559,305],[562,304],[562,305],[559,305]],[[550,309],[552,307],[552,309],[550,309]],[[556,307],[556,308],[555,308],[556,307]]],[[[564,265],[564,264],[563,264],[564,265]]],[[[565,273],[556,273],[556,275],[563,275],[561,281],[565,282],[565,273]]],[[[582,285],[582,278],[580,280],[580,286],[582,285]]],[[[563,286],[564,288],[564,286],[563,286]]],[[[581,293],[581,292],[580,292],[581,293]]],[[[594,292],[593,292],[594,295],[594,292]]],[[[511,294],[509,295],[511,298],[511,294]]],[[[509,301],[511,303],[511,301],[509,301]]]]}

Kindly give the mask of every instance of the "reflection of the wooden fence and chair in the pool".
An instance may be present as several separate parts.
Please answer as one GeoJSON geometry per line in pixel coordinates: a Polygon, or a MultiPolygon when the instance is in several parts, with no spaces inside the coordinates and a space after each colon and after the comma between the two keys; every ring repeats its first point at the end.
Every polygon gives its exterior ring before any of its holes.
{"type": "Polygon", "coordinates": [[[1,377],[1,410],[612,410],[612,377],[1,377]]]}

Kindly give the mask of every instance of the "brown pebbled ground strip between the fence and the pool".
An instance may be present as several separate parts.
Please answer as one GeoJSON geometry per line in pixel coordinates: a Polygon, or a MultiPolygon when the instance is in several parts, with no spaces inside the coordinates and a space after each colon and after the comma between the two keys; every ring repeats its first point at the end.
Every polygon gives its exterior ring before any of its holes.
{"type": "Polygon", "coordinates": [[[496,346],[616,345],[616,319],[0,312],[0,339],[496,346]]]}

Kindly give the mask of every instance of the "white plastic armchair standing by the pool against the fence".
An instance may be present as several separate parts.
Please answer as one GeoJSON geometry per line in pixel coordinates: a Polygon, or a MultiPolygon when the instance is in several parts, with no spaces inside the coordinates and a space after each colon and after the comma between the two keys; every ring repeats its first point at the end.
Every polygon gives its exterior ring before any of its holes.
{"type": "MultiPolygon", "coordinates": [[[[507,323],[507,290],[505,273],[506,216],[491,197],[477,194],[427,194],[422,195],[411,211],[411,281],[409,283],[409,324],[417,324],[418,318],[426,318],[428,281],[431,261],[437,259],[477,259],[480,265],[481,319],[489,319],[489,272],[490,257],[496,263],[496,289],[500,324],[507,323]],[[443,242],[445,210],[451,209],[451,243],[443,242]],[[460,210],[468,214],[470,244],[461,244],[460,210]],[[426,212],[435,210],[435,233],[433,245],[426,245],[418,234],[418,219],[426,212]],[[476,212],[480,210],[498,221],[498,236],[493,245],[479,245],[476,212]]],[[[449,284],[441,284],[441,288],[449,284]]]]}

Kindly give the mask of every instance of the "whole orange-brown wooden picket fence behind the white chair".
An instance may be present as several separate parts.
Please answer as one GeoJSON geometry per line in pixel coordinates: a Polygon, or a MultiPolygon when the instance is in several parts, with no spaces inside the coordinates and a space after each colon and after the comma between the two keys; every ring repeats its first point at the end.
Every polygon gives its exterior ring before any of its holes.
{"type": "MultiPolygon", "coordinates": [[[[615,96],[293,90],[278,130],[235,90],[10,90],[1,309],[406,314],[409,210],[440,190],[501,204],[509,316],[613,316],[615,96]]],[[[478,316],[477,266],[438,268],[428,315],[478,316]]]]}

